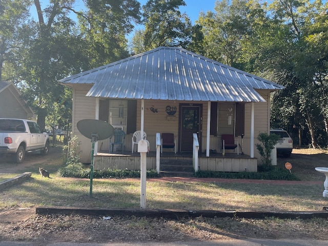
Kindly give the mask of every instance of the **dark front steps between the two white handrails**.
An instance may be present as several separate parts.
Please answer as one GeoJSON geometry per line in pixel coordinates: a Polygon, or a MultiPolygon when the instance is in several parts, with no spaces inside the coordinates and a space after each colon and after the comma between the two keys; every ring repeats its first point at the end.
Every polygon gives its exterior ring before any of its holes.
{"type": "Polygon", "coordinates": [[[159,173],[161,176],[166,177],[191,177],[194,174],[193,161],[182,159],[161,159],[159,173]]]}

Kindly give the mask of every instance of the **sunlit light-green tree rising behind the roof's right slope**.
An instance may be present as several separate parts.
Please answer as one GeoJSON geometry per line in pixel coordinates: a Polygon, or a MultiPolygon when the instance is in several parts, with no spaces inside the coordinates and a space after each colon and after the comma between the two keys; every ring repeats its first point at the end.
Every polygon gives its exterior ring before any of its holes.
{"type": "Polygon", "coordinates": [[[207,57],[238,67],[242,40],[250,35],[249,5],[246,0],[217,1],[215,12],[201,13],[197,23],[202,27],[207,57]]]}

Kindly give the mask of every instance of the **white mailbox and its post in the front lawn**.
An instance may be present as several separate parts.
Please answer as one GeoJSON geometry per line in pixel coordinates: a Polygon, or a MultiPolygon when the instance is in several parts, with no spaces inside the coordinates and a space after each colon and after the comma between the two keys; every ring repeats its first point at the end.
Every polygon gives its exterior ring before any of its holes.
{"type": "Polygon", "coordinates": [[[147,152],[149,152],[149,141],[141,139],[138,142],[138,152],[140,152],[140,209],[146,209],[147,152]]]}

